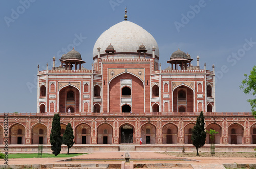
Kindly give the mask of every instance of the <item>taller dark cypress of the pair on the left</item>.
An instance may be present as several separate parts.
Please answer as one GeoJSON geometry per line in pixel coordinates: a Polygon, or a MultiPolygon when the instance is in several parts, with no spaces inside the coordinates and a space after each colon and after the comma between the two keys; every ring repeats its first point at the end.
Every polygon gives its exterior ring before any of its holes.
{"type": "Polygon", "coordinates": [[[54,114],[52,119],[52,129],[50,135],[50,142],[51,142],[51,149],[52,154],[57,156],[61,151],[61,144],[62,144],[62,136],[61,134],[61,127],[60,127],[60,115],[54,114]]]}

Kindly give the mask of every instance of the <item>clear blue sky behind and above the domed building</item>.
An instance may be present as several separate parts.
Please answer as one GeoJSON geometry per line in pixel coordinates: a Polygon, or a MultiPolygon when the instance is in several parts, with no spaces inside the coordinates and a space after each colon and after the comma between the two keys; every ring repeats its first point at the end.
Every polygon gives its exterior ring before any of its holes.
{"type": "Polygon", "coordinates": [[[1,112],[36,112],[37,65],[51,68],[53,55],[58,61],[77,36],[75,49],[90,69],[94,43],[123,21],[125,6],[128,20],[156,39],[162,69],[178,48],[193,65],[199,55],[201,69],[215,64],[217,112],[250,112],[252,96],[239,86],[256,65],[256,2],[209,0],[1,1],[1,112]]]}

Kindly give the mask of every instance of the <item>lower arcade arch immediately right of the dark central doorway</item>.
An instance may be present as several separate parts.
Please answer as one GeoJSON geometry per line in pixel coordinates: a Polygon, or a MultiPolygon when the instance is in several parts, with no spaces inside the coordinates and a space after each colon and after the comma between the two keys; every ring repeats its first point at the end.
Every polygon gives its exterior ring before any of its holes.
{"type": "Polygon", "coordinates": [[[151,123],[146,123],[141,127],[142,143],[155,144],[156,143],[156,127],[151,123]]]}

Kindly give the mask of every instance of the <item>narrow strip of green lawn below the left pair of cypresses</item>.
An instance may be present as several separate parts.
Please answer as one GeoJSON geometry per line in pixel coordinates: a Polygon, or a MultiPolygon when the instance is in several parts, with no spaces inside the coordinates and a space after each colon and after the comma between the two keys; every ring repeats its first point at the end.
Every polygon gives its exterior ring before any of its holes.
{"type": "MultiPolygon", "coordinates": [[[[48,153],[42,153],[42,158],[52,158],[52,157],[74,157],[74,156],[78,156],[78,155],[82,155],[82,154],[87,154],[87,153],[71,153],[69,155],[67,154],[59,154],[57,156],[55,156],[54,154],[48,154],[48,153]]],[[[8,154],[8,158],[37,158],[37,153],[31,153],[31,154],[8,154]]]]}

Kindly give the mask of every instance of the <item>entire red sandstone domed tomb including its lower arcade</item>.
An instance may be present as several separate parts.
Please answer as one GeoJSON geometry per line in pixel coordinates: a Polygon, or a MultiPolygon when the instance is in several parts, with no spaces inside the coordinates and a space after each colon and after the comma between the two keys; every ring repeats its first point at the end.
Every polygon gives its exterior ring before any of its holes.
{"type": "MultiPolygon", "coordinates": [[[[154,37],[125,15],[96,41],[92,67],[82,66],[91,60],[82,60],[75,49],[63,53],[60,66],[55,66],[55,57],[52,68],[39,70],[38,65],[37,113],[8,115],[10,151],[22,151],[22,146],[31,150],[38,144],[50,147],[55,113],[61,115],[62,134],[71,123],[77,150],[139,146],[140,137],[143,145],[156,144],[144,150],[191,146],[191,130],[201,111],[206,130],[219,132],[217,145],[255,147],[256,119],[251,112],[216,112],[214,65],[212,70],[206,70],[205,63],[201,68],[197,56],[193,66],[194,56],[182,50],[170,53],[164,61],[169,67],[162,68],[154,37]]],[[[3,114],[0,135],[4,146],[3,114]]]]}

